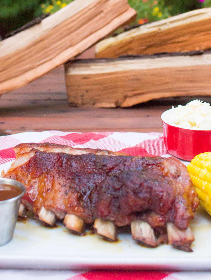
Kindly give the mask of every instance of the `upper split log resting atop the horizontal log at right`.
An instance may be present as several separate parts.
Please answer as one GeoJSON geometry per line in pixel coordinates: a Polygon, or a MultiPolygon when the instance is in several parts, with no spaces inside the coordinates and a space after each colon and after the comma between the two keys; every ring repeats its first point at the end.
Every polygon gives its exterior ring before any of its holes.
{"type": "Polygon", "coordinates": [[[96,58],[186,52],[211,47],[211,8],[142,25],[95,45],[96,58]]]}

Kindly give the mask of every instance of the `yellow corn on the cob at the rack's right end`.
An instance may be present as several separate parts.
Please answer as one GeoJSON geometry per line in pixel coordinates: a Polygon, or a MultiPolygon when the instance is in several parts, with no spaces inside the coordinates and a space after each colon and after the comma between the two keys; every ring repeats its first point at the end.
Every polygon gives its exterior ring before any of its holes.
{"type": "Polygon", "coordinates": [[[211,152],[201,153],[187,166],[200,199],[200,205],[211,215],[211,152]]]}

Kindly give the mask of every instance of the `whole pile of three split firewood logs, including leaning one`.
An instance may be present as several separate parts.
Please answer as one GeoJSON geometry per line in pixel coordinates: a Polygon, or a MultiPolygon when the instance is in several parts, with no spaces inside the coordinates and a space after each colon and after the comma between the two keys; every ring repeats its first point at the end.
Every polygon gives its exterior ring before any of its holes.
{"type": "Polygon", "coordinates": [[[211,8],[108,38],[135,14],[127,0],[75,0],[3,40],[0,93],[65,63],[68,100],[75,106],[127,107],[160,97],[210,96],[211,8]],[[77,59],[90,46],[95,58],[77,59]]]}

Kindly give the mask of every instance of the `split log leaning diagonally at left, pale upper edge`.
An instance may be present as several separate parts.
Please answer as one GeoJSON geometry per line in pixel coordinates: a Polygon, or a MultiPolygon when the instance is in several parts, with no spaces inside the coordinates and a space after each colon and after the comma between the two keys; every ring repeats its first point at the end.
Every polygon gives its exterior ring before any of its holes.
{"type": "Polygon", "coordinates": [[[127,0],[75,0],[0,42],[0,94],[24,86],[82,53],[136,12],[127,0]]]}

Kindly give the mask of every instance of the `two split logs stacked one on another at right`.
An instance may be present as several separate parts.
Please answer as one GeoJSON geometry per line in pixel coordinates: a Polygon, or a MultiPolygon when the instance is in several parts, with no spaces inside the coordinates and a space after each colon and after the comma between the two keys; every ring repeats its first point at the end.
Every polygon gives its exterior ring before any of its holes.
{"type": "Polygon", "coordinates": [[[211,96],[211,8],[149,23],[97,43],[96,59],[65,64],[69,102],[128,107],[211,96]]]}

